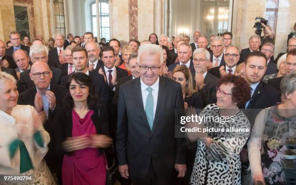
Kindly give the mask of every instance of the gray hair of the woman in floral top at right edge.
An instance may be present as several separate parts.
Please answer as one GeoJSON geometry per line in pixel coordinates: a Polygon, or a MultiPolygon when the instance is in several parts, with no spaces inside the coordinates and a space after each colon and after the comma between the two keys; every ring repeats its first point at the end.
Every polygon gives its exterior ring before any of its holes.
{"type": "Polygon", "coordinates": [[[286,94],[296,90],[296,72],[290,72],[281,79],[281,94],[286,99],[286,94]]]}

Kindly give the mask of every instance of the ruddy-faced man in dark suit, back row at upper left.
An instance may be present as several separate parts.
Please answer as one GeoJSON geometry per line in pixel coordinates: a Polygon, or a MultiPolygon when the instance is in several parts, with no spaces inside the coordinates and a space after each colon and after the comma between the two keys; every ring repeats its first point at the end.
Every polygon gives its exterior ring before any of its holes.
{"type": "MultiPolygon", "coordinates": [[[[8,55],[9,57],[13,57],[14,51],[18,49],[22,49],[30,53],[30,47],[21,44],[20,34],[18,32],[16,31],[10,32],[9,38],[13,46],[6,50],[6,55],[8,55]]],[[[15,69],[16,67],[12,66],[10,68],[15,69]]]]}

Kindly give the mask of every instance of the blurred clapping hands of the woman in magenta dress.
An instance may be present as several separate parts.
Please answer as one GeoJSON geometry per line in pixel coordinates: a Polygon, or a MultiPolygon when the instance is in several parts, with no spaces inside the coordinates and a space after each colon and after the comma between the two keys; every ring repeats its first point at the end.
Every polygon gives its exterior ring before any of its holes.
{"type": "Polygon", "coordinates": [[[70,137],[66,141],[62,142],[62,147],[66,152],[73,152],[76,150],[88,148],[90,146],[91,139],[88,134],[70,137]]]}

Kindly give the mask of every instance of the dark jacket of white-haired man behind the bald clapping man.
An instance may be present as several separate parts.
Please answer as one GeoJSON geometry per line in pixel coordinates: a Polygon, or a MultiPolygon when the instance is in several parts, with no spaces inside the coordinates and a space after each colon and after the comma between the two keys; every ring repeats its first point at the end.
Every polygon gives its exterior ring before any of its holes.
{"type": "MultiPolygon", "coordinates": [[[[54,68],[49,66],[52,71],[52,78],[50,79],[50,83],[59,85],[61,80],[61,70],[58,68],[54,68]]],[[[29,73],[31,72],[31,68],[21,72],[19,83],[17,85],[17,90],[19,93],[24,92],[34,85],[34,82],[31,80],[29,73]]]]}

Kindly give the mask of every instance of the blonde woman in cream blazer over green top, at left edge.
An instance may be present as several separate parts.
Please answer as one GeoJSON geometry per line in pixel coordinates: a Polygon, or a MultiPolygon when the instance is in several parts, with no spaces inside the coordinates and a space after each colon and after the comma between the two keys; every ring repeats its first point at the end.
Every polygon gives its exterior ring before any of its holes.
{"type": "Polygon", "coordinates": [[[15,78],[0,71],[0,185],[56,185],[43,160],[49,134],[34,107],[17,98],[15,78]]]}

